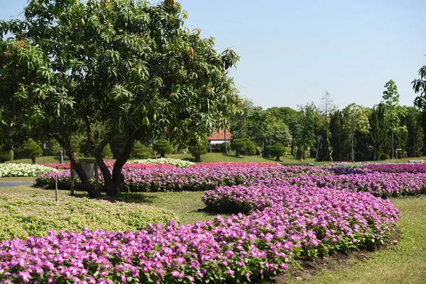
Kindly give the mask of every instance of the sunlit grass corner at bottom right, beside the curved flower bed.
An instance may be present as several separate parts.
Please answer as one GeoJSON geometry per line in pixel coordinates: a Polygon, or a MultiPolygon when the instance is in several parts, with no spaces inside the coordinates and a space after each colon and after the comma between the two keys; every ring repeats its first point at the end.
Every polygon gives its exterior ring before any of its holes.
{"type": "MultiPolygon", "coordinates": [[[[306,278],[304,283],[426,283],[426,197],[393,199],[401,210],[402,239],[365,261],[349,260],[306,278]],[[349,268],[347,267],[349,265],[349,268]]],[[[296,283],[290,280],[289,283],[296,283]]]]}

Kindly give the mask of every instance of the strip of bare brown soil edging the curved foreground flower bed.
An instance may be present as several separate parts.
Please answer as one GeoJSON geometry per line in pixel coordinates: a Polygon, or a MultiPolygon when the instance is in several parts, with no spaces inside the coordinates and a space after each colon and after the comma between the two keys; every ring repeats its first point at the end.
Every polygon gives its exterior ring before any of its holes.
{"type": "Polygon", "coordinates": [[[373,250],[361,249],[359,251],[352,251],[351,253],[333,253],[332,255],[324,258],[317,258],[313,261],[297,260],[297,264],[300,265],[302,270],[295,266],[289,266],[287,273],[282,273],[271,279],[271,283],[284,284],[288,283],[288,280],[293,279],[297,281],[303,281],[315,275],[319,271],[329,270],[336,266],[343,266],[349,268],[354,266],[358,261],[365,261],[371,258],[371,253],[374,251],[380,251],[386,249],[388,246],[398,245],[401,239],[401,233],[399,230],[395,230],[388,240],[381,245],[376,246],[373,250]]]}

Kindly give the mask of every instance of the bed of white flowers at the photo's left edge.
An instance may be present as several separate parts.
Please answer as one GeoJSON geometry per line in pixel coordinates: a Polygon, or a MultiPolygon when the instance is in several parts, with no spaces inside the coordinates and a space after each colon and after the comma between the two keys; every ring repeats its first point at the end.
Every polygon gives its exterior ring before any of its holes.
{"type": "Polygon", "coordinates": [[[42,173],[55,172],[54,168],[45,165],[34,165],[25,163],[0,164],[1,177],[35,177],[42,173]]]}

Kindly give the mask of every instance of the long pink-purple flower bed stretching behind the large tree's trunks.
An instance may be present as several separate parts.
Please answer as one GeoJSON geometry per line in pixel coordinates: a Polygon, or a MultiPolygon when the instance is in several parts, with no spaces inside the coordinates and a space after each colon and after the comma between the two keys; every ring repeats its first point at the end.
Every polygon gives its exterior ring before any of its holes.
{"type": "MultiPolygon", "coordinates": [[[[159,164],[163,165],[163,164],[159,164]]],[[[130,192],[204,191],[224,185],[298,185],[329,187],[351,192],[364,191],[378,197],[397,197],[426,192],[426,173],[364,172],[361,169],[302,167],[302,166],[232,166],[216,165],[190,168],[138,169],[125,168],[122,189],[130,192]],[[341,169],[341,170],[339,170],[341,169]]],[[[100,173],[100,172],[99,172],[100,173]]],[[[70,188],[70,173],[38,175],[36,185],[53,188],[58,175],[58,187],[70,188]]],[[[99,182],[103,182],[99,174],[99,182]]],[[[75,187],[81,187],[76,180],[75,187]]]]}

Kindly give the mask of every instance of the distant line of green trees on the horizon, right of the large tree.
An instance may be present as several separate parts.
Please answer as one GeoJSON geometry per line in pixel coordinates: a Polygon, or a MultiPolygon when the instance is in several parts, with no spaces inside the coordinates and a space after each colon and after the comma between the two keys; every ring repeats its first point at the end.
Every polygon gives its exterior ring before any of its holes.
{"type": "Polygon", "coordinates": [[[328,92],[320,104],[312,102],[297,109],[262,109],[246,99],[229,119],[230,130],[234,139],[252,141],[266,156],[278,156],[271,153],[277,143],[297,159],[308,158],[309,153],[318,161],[426,155],[425,111],[400,106],[393,80],[384,86],[382,98],[371,108],[349,104],[343,109],[334,105],[328,92]]]}

